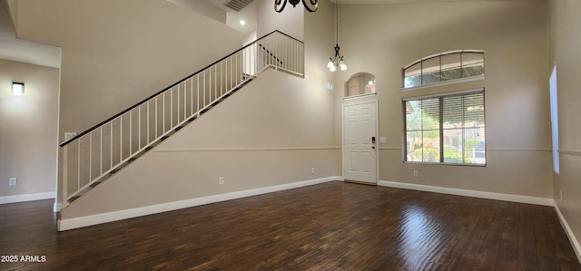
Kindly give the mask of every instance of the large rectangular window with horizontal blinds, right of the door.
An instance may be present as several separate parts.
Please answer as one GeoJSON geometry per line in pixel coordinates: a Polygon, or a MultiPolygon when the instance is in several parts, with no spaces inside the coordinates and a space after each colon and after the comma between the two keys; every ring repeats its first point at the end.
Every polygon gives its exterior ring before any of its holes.
{"type": "Polygon", "coordinates": [[[484,89],[403,100],[404,161],[486,165],[484,89]]]}

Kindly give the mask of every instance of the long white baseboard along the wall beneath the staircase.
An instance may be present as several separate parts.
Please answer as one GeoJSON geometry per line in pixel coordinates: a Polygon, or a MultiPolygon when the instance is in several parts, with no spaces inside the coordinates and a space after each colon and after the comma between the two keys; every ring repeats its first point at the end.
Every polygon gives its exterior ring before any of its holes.
{"type": "Polygon", "coordinates": [[[131,209],[124,209],[114,212],[108,212],[103,214],[85,216],[80,218],[66,218],[66,219],[59,219],[58,220],[58,230],[64,231],[68,229],[78,228],[78,227],[87,227],[93,226],[97,224],[103,224],[107,222],[113,222],[117,220],[123,220],[127,218],[137,218],[143,217],[153,214],[158,214],[162,212],[172,211],[181,208],[191,208],[195,206],[201,206],[205,204],[210,204],[214,202],[220,202],[225,200],[231,200],[236,198],[246,198],[251,196],[257,196],[261,194],[277,192],[287,189],[297,189],[301,187],[311,186],[315,184],[320,184],[324,182],[329,182],[333,180],[342,180],[343,178],[340,176],[332,176],[327,178],[320,178],[320,179],[310,179],[300,182],[293,182],[289,184],[282,184],[272,187],[260,188],[260,189],[249,189],[243,191],[236,191],[231,193],[225,193],[220,195],[213,195],[208,197],[202,198],[190,198],[180,201],[173,201],[168,203],[162,203],[152,206],[145,206],[141,208],[131,208],[131,209]]]}

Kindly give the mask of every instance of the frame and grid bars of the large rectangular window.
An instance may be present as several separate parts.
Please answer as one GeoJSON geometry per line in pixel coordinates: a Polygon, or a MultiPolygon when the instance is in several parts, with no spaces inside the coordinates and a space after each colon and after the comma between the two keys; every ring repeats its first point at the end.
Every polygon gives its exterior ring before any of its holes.
{"type": "MultiPolygon", "coordinates": [[[[478,88],[478,89],[470,89],[470,90],[465,90],[465,91],[459,91],[459,92],[443,92],[443,93],[438,93],[438,94],[433,94],[433,95],[426,95],[426,96],[415,96],[415,97],[407,97],[407,98],[403,98],[401,100],[401,104],[402,104],[402,113],[403,113],[403,146],[402,146],[402,159],[404,163],[410,163],[410,164],[433,164],[433,165],[451,165],[451,166],[471,166],[471,167],[486,167],[487,166],[487,143],[486,143],[486,95],[485,95],[485,89],[484,88],[478,88]],[[469,95],[469,94],[475,94],[475,93],[481,93],[482,94],[482,106],[483,106],[483,112],[482,112],[482,123],[483,123],[483,139],[484,139],[484,163],[467,163],[467,162],[446,162],[445,161],[445,148],[444,148],[444,144],[443,141],[444,139],[444,131],[449,130],[449,129],[445,129],[444,128],[444,98],[446,97],[454,97],[454,96],[465,96],[465,95],[469,95]],[[424,100],[432,100],[432,99],[438,99],[438,115],[439,115],[439,120],[438,120],[438,141],[439,141],[439,145],[438,145],[438,161],[434,162],[434,161],[424,161],[424,155],[422,154],[422,160],[421,161],[413,161],[413,160],[408,160],[408,149],[409,149],[409,142],[408,142],[408,113],[407,113],[407,107],[406,107],[406,103],[410,102],[410,101],[424,101],[424,100]]],[[[462,120],[463,123],[464,119],[462,120]]],[[[423,125],[423,124],[422,124],[423,125]]],[[[461,131],[462,131],[462,136],[463,136],[463,140],[466,140],[466,130],[470,129],[467,128],[465,126],[462,126],[461,131]]],[[[428,129],[429,131],[433,130],[433,129],[428,129]]],[[[422,129],[420,130],[423,134],[424,128],[422,127],[422,129]]],[[[422,145],[424,144],[424,141],[422,139],[422,145]]],[[[466,143],[464,143],[464,146],[466,146],[466,143]]],[[[465,160],[465,155],[464,155],[464,150],[462,150],[462,159],[465,160]]]]}

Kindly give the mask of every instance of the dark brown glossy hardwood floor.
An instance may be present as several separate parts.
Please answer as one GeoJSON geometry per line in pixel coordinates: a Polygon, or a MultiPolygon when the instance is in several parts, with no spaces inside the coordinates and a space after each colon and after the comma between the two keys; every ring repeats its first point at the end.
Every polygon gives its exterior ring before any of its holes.
{"type": "Polygon", "coordinates": [[[57,232],[0,205],[0,270],[581,270],[553,208],[330,182],[57,232]],[[34,259],[34,258],[33,258],[34,259]]]}

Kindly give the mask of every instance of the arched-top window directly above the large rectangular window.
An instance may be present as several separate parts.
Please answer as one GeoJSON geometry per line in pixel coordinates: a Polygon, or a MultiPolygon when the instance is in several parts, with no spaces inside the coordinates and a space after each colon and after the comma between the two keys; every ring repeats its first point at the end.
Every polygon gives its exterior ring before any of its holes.
{"type": "Polygon", "coordinates": [[[484,75],[484,52],[459,50],[438,53],[409,63],[402,69],[404,89],[484,75]]]}

